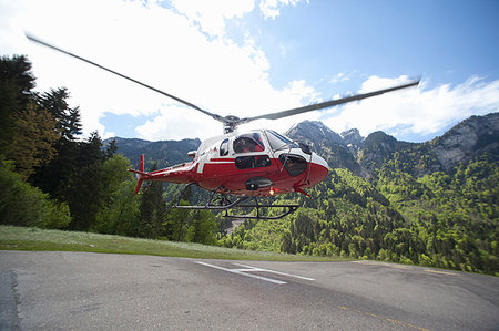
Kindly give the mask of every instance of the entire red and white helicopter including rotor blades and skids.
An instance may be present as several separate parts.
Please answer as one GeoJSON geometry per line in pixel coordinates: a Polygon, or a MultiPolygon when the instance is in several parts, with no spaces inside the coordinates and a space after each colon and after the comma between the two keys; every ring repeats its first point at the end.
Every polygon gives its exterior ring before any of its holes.
{"type": "Polygon", "coordinates": [[[139,169],[129,170],[138,176],[135,193],[139,193],[143,182],[186,184],[184,190],[191,185],[197,185],[211,192],[206,204],[201,206],[180,206],[179,204],[175,204],[174,208],[225,210],[226,217],[257,219],[284,217],[295,211],[298,208],[298,205],[259,204],[257,197],[268,197],[287,193],[301,193],[308,196],[305,189],[320,183],[324,178],[326,178],[329,172],[329,166],[326,161],[314,153],[309,145],[294,142],[288,137],[271,130],[255,130],[238,133],[236,131],[238,125],[255,120],[278,120],[306,112],[327,108],[339,104],[380,95],[387,92],[415,86],[419,83],[419,80],[416,80],[410,83],[370,93],[352,95],[254,117],[240,118],[232,115],[222,116],[202,110],[185,100],[141,83],[86,59],[69,53],[31,35],[27,35],[27,38],[33,42],[62,52],[67,55],[101,68],[123,79],[161,93],[205,115],[208,115],[218,122],[222,122],[224,126],[224,134],[204,141],[197,151],[190,152],[189,156],[193,158],[191,162],[155,172],[145,172],[144,155],[141,155],[139,169]],[[234,196],[235,200],[231,200],[231,196],[234,196]],[[253,204],[246,203],[249,198],[253,199],[253,204]],[[256,208],[256,216],[230,215],[228,210],[234,207],[256,208]],[[284,207],[287,210],[278,216],[268,217],[261,215],[259,208],[262,207],[284,207]]]}

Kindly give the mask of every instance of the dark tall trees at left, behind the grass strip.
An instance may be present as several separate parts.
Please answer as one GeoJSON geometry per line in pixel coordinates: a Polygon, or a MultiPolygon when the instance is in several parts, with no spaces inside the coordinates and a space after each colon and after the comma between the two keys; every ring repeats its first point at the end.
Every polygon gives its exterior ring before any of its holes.
{"type": "Polygon", "coordinates": [[[215,217],[172,210],[162,184],[135,195],[130,161],[98,132],[82,138],[65,87],[35,92],[31,62],[0,61],[1,224],[132,237],[216,242],[215,217]]]}

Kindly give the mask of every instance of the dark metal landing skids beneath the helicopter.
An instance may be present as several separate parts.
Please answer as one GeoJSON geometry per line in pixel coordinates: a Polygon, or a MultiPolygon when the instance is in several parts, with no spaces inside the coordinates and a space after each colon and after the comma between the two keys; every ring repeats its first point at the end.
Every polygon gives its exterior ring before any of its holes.
{"type": "Polygon", "coordinates": [[[237,219],[279,219],[283,218],[292,213],[295,213],[299,205],[291,204],[291,205],[271,205],[271,204],[258,204],[258,200],[256,197],[237,197],[234,201],[232,201],[227,194],[221,194],[217,193],[218,189],[222,189],[223,187],[216,187],[215,189],[211,190],[210,198],[206,200],[205,205],[200,206],[181,206],[179,205],[182,196],[184,195],[185,189],[190,187],[191,185],[196,185],[195,183],[187,184],[182,189],[182,193],[172,208],[174,209],[193,209],[193,210],[217,210],[217,211],[225,211],[224,217],[226,218],[237,218],[237,219]],[[247,203],[248,200],[253,200],[252,203],[247,203]],[[228,210],[232,208],[256,208],[256,216],[255,215],[231,215],[228,214],[228,210]],[[286,211],[277,215],[277,216],[263,216],[261,215],[261,208],[287,208],[286,211]]]}

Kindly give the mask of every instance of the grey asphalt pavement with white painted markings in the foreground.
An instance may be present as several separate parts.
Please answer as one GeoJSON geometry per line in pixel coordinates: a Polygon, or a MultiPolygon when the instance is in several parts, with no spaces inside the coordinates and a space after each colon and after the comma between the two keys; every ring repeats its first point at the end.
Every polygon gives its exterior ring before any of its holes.
{"type": "Polygon", "coordinates": [[[0,251],[1,330],[499,330],[499,278],[383,262],[0,251]]]}

